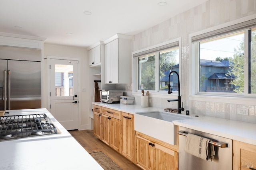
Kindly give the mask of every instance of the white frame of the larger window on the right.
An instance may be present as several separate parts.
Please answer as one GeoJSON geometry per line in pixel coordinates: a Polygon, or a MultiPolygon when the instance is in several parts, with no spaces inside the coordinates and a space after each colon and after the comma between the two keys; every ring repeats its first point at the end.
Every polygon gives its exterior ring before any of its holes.
{"type": "MultiPolygon", "coordinates": [[[[196,33],[191,33],[189,34],[189,84],[191,85],[189,88],[189,100],[198,100],[198,97],[202,98],[203,101],[205,101],[205,98],[208,98],[207,101],[212,101],[212,102],[219,102],[218,100],[220,99],[220,97],[222,98],[232,98],[234,100],[230,100],[230,102],[232,101],[232,103],[234,104],[242,104],[241,102],[237,102],[237,100],[235,98],[244,98],[244,101],[250,101],[250,98],[256,98],[256,94],[249,94],[248,93],[248,63],[244,64],[244,93],[243,94],[232,94],[232,93],[222,93],[222,92],[200,92],[199,90],[199,70],[200,70],[200,62],[199,62],[199,43],[192,43],[192,37],[195,36],[200,36],[202,34],[205,33],[210,33],[210,32],[214,32],[218,29],[223,29],[225,27],[229,27],[232,25],[241,25],[242,22],[246,22],[246,21],[250,21],[255,19],[254,16],[248,16],[246,18],[241,18],[235,21],[230,21],[228,23],[224,23],[215,27],[211,27],[202,31],[198,31],[196,33]],[[197,50],[196,50],[197,49],[197,50]],[[198,97],[197,97],[198,96],[198,97]],[[205,96],[205,98],[204,98],[205,96]]],[[[254,26],[256,27],[256,26],[254,26]]],[[[252,29],[252,28],[251,28],[252,29]]],[[[236,30],[236,32],[240,32],[240,31],[244,31],[245,35],[248,35],[248,30],[249,29],[239,29],[236,30]]],[[[224,35],[228,35],[231,33],[234,33],[235,31],[230,31],[225,33],[224,35]]],[[[220,37],[223,35],[220,35],[220,37]]],[[[215,36],[216,37],[216,36],[215,36]]],[[[210,37],[210,39],[213,37],[210,37]]],[[[202,41],[202,40],[200,40],[202,41]]],[[[244,58],[245,61],[247,61],[249,59],[248,56],[248,36],[244,37],[244,41],[246,42],[244,45],[244,58]]],[[[201,99],[200,99],[201,100],[201,99]]],[[[230,103],[228,102],[228,100],[225,101],[225,103],[230,103]]],[[[248,103],[244,103],[244,104],[248,104],[248,103]]]]}

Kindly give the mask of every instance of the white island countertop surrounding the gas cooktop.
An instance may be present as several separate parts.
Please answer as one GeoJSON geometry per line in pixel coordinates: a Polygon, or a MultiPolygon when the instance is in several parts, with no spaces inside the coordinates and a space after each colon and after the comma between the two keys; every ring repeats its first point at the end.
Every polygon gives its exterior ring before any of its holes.
{"type": "Polygon", "coordinates": [[[9,115],[46,113],[61,133],[0,141],[1,170],[103,170],[46,109],[9,112],[9,115]]]}

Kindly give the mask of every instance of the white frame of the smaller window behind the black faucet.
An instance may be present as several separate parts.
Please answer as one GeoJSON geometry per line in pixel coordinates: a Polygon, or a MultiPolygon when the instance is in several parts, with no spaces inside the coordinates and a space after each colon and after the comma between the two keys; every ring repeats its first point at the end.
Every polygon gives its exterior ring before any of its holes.
{"type": "MultiPolygon", "coordinates": [[[[139,90],[138,88],[138,56],[134,57],[135,54],[137,53],[143,53],[144,51],[150,51],[152,49],[161,47],[161,46],[165,46],[171,43],[175,43],[178,42],[178,45],[176,47],[178,47],[179,49],[179,76],[180,76],[180,84],[182,84],[182,60],[181,60],[181,37],[178,37],[176,39],[172,39],[169,41],[166,41],[164,43],[160,43],[157,45],[153,45],[151,47],[148,48],[144,48],[138,51],[134,51],[132,52],[132,94],[136,95],[136,94],[141,94],[141,90],[139,90]]],[[[174,46],[170,46],[170,48],[174,48],[174,46]]],[[[168,47],[166,48],[168,49],[168,47]]],[[[159,50],[156,52],[156,58],[155,58],[155,64],[157,66],[157,69],[155,71],[155,78],[156,78],[156,89],[155,90],[149,90],[150,95],[151,96],[159,96],[159,95],[169,95],[168,92],[164,91],[164,90],[160,90],[159,89],[159,52],[162,50],[159,50]]],[[[182,88],[181,88],[182,89],[182,88]]],[[[180,89],[180,92],[182,92],[182,90],[180,89]]],[[[173,96],[178,96],[178,92],[174,91],[173,96]]]]}

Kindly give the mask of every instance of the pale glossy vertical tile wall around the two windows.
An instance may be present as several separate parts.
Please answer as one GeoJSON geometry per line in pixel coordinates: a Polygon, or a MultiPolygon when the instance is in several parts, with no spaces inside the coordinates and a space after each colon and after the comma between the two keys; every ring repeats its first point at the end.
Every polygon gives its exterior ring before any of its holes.
{"type": "MultiPolygon", "coordinates": [[[[236,121],[256,123],[256,104],[239,105],[232,103],[196,101],[188,99],[188,68],[189,40],[188,35],[229,21],[256,14],[256,0],[208,0],[195,8],[178,14],[154,27],[146,29],[132,40],[132,51],[138,51],[168,40],[182,39],[182,102],[190,112],[200,115],[220,117],[236,121]],[[248,109],[247,115],[237,114],[238,108],[248,109]]],[[[121,84],[128,95],[132,94],[132,84],[121,84]]],[[[150,106],[161,108],[177,108],[176,102],[168,103],[167,98],[150,97],[150,106]]],[[[140,96],[135,96],[135,102],[140,104],[140,96]]],[[[256,103],[256,102],[255,102],[256,103]]],[[[185,108],[186,110],[186,108],[185,108]]]]}

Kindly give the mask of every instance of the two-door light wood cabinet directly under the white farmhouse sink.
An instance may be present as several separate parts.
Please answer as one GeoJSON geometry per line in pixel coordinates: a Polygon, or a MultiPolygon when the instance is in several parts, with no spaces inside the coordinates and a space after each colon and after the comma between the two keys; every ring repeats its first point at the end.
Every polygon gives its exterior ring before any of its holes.
{"type": "Polygon", "coordinates": [[[178,152],[136,135],[136,162],[144,170],[178,170],[178,152]]]}

